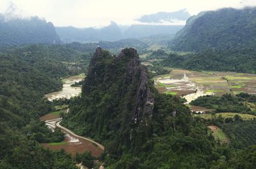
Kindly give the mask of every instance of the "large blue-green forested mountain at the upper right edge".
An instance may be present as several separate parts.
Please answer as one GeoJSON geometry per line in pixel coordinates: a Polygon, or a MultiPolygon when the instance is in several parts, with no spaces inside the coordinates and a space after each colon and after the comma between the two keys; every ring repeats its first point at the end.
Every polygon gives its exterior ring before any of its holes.
{"type": "Polygon", "coordinates": [[[207,48],[233,50],[256,45],[256,8],[223,8],[205,11],[187,20],[176,34],[173,50],[199,51],[207,48]]]}

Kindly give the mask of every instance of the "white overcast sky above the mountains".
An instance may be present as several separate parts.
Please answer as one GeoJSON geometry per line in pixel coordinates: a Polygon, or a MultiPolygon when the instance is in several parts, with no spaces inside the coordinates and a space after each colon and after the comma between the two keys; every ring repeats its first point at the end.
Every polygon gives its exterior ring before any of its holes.
{"type": "MultiPolygon", "coordinates": [[[[187,8],[191,15],[223,7],[256,6],[256,0],[13,0],[26,15],[38,15],[55,26],[106,26],[134,23],[141,15],[187,8]]],[[[3,13],[10,0],[0,0],[3,13]]]]}

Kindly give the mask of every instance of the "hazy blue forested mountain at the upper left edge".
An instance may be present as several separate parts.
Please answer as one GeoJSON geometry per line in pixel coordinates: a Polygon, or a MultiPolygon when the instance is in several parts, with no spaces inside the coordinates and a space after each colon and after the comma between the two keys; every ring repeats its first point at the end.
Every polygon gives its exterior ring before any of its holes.
{"type": "Polygon", "coordinates": [[[60,43],[51,22],[38,17],[8,18],[0,14],[0,45],[60,43]]]}

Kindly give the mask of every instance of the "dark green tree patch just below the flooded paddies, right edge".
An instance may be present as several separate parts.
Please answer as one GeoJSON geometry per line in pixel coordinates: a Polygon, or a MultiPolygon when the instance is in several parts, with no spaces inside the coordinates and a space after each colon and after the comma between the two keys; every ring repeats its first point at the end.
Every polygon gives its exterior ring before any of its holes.
{"type": "Polygon", "coordinates": [[[232,94],[224,94],[223,96],[200,96],[191,101],[190,104],[205,108],[214,108],[216,112],[237,112],[256,115],[256,96],[243,92],[236,96],[232,94]]]}

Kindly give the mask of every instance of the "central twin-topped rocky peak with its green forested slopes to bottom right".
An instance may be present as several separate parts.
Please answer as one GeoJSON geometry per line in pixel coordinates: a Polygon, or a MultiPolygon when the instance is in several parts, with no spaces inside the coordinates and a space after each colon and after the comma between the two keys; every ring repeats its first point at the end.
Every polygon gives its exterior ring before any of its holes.
{"type": "Polygon", "coordinates": [[[83,94],[71,101],[61,124],[104,143],[106,168],[255,165],[255,145],[237,150],[218,144],[207,123],[192,117],[182,99],[159,94],[152,83],[136,50],[125,48],[115,57],[97,48],[83,94]]]}

